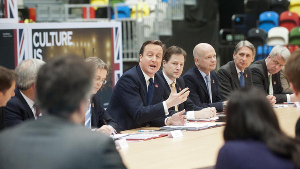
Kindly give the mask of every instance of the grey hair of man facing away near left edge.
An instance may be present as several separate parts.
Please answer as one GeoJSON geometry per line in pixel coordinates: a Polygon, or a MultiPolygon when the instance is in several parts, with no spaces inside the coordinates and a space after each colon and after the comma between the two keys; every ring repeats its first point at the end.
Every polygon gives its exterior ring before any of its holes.
{"type": "Polygon", "coordinates": [[[37,81],[38,71],[45,62],[40,59],[22,60],[16,67],[18,80],[16,85],[19,90],[29,89],[37,81]]]}

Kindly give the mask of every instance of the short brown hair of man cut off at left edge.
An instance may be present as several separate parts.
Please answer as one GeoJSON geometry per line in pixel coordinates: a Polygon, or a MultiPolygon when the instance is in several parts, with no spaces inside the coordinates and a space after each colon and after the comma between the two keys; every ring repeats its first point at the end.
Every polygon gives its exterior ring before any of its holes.
{"type": "Polygon", "coordinates": [[[17,78],[15,71],[0,66],[0,92],[5,93],[17,78]]]}

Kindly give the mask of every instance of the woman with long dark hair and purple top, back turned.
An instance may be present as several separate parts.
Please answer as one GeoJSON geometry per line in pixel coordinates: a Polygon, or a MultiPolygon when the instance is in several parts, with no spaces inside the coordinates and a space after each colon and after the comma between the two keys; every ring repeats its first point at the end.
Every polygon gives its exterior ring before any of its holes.
{"type": "Polygon", "coordinates": [[[226,113],[225,145],[220,149],[216,169],[300,167],[300,141],[281,131],[261,91],[235,92],[226,113]]]}

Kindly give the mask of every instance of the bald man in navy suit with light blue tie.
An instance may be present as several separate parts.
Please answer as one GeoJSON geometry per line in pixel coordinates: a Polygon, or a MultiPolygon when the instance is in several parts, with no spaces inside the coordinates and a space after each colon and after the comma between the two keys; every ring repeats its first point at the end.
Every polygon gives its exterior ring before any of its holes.
{"type": "Polygon", "coordinates": [[[199,107],[215,107],[223,112],[223,102],[218,89],[218,79],[214,72],[217,65],[216,52],[207,43],[200,43],[193,50],[195,66],[184,75],[185,86],[190,90],[190,99],[199,107]]]}

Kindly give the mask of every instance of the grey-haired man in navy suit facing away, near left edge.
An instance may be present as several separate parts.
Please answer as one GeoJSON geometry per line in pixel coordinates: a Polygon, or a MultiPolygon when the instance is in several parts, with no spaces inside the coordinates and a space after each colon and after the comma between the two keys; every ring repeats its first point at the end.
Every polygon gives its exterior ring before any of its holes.
{"type": "Polygon", "coordinates": [[[7,127],[23,121],[37,119],[40,110],[35,105],[35,84],[39,69],[45,62],[39,59],[23,60],[17,67],[15,96],[5,106],[5,122],[7,127]]]}

